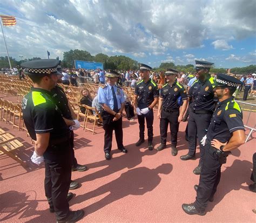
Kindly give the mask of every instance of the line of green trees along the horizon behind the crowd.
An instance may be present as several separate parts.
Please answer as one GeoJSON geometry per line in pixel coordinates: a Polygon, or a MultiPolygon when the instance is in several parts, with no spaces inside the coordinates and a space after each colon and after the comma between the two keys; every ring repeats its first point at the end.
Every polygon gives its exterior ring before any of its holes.
{"type": "MultiPolygon", "coordinates": [[[[24,61],[29,60],[38,60],[41,59],[39,57],[33,57],[30,59],[24,59],[17,61],[15,58],[10,57],[12,67],[16,67],[21,65],[24,61]]],[[[56,58],[58,59],[58,58],[56,58]]],[[[119,71],[126,71],[126,70],[136,70],[139,69],[139,62],[133,60],[129,57],[124,55],[113,55],[108,56],[104,53],[98,53],[95,56],[91,55],[89,52],[85,50],[70,50],[63,53],[63,60],[62,60],[62,67],[66,68],[75,68],[75,60],[85,60],[85,61],[95,61],[95,62],[102,62],[104,69],[117,69],[119,71]]],[[[7,57],[0,57],[0,68],[9,67],[9,62],[7,57]]],[[[162,62],[159,67],[153,67],[153,71],[164,71],[165,68],[174,68],[178,71],[182,71],[185,73],[193,73],[196,72],[194,69],[194,65],[187,64],[187,65],[175,65],[173,62],[162,62]]],[[[213,73],[226,73],[225,68],[211,68],[211,72],[213,73]]],[[[248,73],[255,73],[256,72],[256,65],[250,65],[246,67],[234,67],[231,68],[231,73],[234,74],[248,74],[248,73]]]]}

